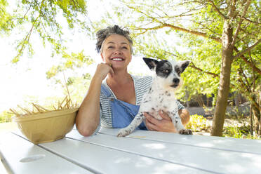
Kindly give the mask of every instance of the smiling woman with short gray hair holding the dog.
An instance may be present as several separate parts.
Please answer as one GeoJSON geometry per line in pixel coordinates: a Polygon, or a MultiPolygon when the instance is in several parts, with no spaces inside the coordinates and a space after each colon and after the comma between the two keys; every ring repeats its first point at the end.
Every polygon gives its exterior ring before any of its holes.
{"type": "MultiPolygon", "coordinates": [[[[142,95],[152,83],[150,76],[132,76],[128,73],[133,53],[133,41],[128,30],[114,25],[98,31],[97,37],[96,50],[103,62],[98,65],[76,116],[76,127],[83,136],[97,133],[100,125],[109,128],[128,126],[138,114],[142,95]]],[[[180,103],[178,107],[185,125],[189,122],[189,112],[180,103]]],[[[140,129],[175,132],[168,114],[159,111],[162,120],[144,114],[146,126],[142,123],[140,129]]]]}

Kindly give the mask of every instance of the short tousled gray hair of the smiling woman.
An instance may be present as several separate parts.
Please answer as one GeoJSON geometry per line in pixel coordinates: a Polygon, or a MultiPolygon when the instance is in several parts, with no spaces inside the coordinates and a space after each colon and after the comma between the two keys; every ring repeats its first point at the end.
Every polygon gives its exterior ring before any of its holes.
{"type": "Polygon", "coordinates": [[[107,27],[105,29],[100,29],[96,33],[97,36],[96,51],[98,53],[100,53],[102,49],[103,41],[105,41],[105,39],[107,39],[107,37],[111,36],[112,34],[119,34],[121,36],[124,36],[130,44],[131,53],[133,53],[133,40],[131,39],[130,32],[128,31],[128,29],[123,29],[118,25],[114,25],[113,27],[107,27]]]}

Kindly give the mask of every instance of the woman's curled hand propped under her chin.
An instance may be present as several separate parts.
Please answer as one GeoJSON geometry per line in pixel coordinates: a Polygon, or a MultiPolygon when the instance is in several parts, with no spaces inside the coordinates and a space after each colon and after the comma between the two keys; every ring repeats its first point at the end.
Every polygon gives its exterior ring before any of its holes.
{"type": "Polygon", "coordinates": [[[100,78],[101,80],[105,79],[107,74],[113,76],[114,71],[112,69],[112,64],[100,63],[97,65],[96,72],[94,74],[94,78],[100,78]]]}

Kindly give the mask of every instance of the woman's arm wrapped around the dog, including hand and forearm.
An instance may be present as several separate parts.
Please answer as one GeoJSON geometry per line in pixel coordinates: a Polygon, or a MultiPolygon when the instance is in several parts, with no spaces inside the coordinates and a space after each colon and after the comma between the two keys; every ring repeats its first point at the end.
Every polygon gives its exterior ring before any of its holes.
{"type": "MultiPolygon", "coordinates": [[[[182,124],[185,126],[189,123],[189,111],[187,109],[179,109],[178,114],[182,124]]],[[[153,116],[144,113],[145,123],[149,131],[161,131],[161,132],[173,132],[176,133],[175,126],[173,125],[170,117],[165,112],[159,112],[159,115],[162,117],[161,120],[155,119],[153,116]]]]}

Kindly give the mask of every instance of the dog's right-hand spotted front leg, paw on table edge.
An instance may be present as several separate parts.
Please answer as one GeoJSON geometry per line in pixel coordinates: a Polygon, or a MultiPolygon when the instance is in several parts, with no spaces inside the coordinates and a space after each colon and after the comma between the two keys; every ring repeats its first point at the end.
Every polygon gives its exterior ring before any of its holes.
{"type": "Polygon", "coordinates": [[[192,135],[192,131],[190,129],[186,129],[180,119],[180,116],[178,115],[178,112],[171,112],[169,114],[170,118],[172,119],[172,122],[177,129],[178,133],[183,135],[192,135]]]}

